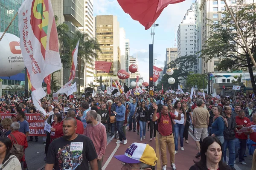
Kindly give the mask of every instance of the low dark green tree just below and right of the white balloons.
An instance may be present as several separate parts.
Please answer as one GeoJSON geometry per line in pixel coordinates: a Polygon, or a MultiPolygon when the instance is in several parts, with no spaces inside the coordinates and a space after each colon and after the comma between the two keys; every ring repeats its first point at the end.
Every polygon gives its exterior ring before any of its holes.
{"type": "Polygon", "coordinates": [[[186,78],[186,87],[192,88],[192,86],[197,86],[199,91],[206,88],[207,74],[189,74],[186,78]]]}

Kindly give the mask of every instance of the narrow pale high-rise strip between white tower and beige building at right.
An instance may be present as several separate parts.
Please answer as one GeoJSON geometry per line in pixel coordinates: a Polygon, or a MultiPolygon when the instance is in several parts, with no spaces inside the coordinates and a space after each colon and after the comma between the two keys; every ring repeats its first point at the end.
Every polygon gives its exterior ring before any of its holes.
{"type": "Polygon", "coordinates": [[[202,74],[202,58],[201,51],[202,50],[202,20],[201,20],[201,10],[199,7],[201,6],[201,0],[195,1],[195,20],[196,20],[196,47],[197,47],[197,54],[196,54],[196,61],[197,61],[197,72],[202,74]]]}

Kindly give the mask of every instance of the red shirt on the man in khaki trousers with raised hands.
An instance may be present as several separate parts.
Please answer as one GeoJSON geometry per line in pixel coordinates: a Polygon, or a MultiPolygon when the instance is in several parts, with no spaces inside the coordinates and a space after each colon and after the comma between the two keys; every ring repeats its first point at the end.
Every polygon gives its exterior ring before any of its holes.
{"type": "MultiPolygon", "coordinates": [[[[170,112],[172,119],[175,119],[175,114],[170,112]]],[[[157,118],[159,118],[159,113],[157,113],[157,118]]],[[[157,120],[158,123],[158,120],[157,120]]],[[[172,134],[172,120],[170,119],[169,115],[167,114],[166,116],[161,113],[161,118],[160,122],[158,123],[158,132],[162,136],[168,136],[172,134]]]]}

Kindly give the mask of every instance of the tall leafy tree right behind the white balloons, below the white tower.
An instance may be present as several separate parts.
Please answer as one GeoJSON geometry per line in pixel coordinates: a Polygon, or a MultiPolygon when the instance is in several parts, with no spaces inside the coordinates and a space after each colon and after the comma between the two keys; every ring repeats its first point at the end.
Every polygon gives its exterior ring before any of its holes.
{"type": "Polygon", "coordinates": [[[186,77],[194,70],[194,66],[196,65],[196,56],[194,55],[186,55],[181,56],[171,61],[169,63],[169,68],[177,68],[177,71],[180,73],[180,77],[186,79],[186,77]]]}

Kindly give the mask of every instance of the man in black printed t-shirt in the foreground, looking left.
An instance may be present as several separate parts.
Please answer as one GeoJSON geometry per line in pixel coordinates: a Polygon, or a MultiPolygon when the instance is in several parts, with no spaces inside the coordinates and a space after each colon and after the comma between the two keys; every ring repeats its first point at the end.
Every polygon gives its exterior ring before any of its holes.
{"type": "Polygon", "coordinates": [[[98,170],[97,153],[93,142],[84,135],[76,134],[76,119],[63,121],[63,136],[49,145],[45,170],[98,170]]]}

